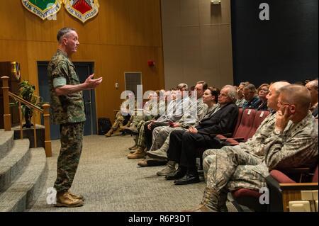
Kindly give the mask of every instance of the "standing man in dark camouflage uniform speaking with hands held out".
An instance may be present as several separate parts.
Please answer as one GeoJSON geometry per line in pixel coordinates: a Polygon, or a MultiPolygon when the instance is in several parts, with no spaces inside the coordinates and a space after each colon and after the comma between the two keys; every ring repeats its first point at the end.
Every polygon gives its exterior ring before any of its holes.
{"type": "Polygon", "coordinates": [[[91,74],[80,84],[74,64],[69,57],[77,52],[77,32],[62,28],[57,33],[57,52],[47,67],[50,81],[52,123],[60,124],[61,149],[57,158],[56,206],[77,207],[83,205],[83,196],[69,191],[77,171],[82,152],[82,136],[85,121],[83,90],[94,89],[102,78],[91,74]]]}

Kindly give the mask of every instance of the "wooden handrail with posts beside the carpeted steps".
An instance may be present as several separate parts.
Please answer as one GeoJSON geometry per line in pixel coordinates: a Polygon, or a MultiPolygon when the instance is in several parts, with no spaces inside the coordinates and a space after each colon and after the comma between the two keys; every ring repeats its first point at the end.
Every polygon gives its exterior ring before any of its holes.
{"type": "MultiPolygon", "coordinates": [[[[52,145],[51,145],[51,136],[50,136],[50,104],[43,104],[43,110],[38,106],[35,106],[33,103],[29,103],[28,101],[24,100],[20,96],[13,94],[9,91],[9,77],[3,76],[2,79],[2,90],[4,93],[4,130],[10,131],[11,130],[11,114],[9,108],[9,96],[11,98],[18,101],[19,106],[19,118],[20,118],[20,134],[21,139],[23,139],[23,130],[22,130],[22,115],[21,115],[21,103],[25,104],[29,108],[32,108],[35,111],[40,112],[43,114],[44,124],[45,124],[45,155],[46,157],[52,157],[52,145]]],[[[35,117],[33,117],[33,133],[34,133],[34,145],[37,147],[37,135],[36,135],[36,128],[35,128],[35,117]]]]}

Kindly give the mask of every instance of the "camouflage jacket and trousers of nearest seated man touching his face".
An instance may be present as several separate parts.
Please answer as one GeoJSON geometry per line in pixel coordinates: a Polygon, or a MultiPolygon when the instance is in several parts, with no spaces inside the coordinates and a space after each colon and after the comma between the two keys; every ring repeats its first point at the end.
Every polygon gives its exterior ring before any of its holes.
{"type": "MultiPolygon", "coordinates": [[[[260,128],[259,132],[262,133],[262,130],[260,128]]],[[[240,145],[206,150],[206,188],[217,194],[223,188],[228,191],[237,188],[258,191],[267,186],[264,178],[269,175],[269,168],[315,166],[318,162],[318,125],[311,113],[299,123],[289,121],[281,135],[275,135],[273,131],[264,134],[266,137],[262,138],[262,142],[257,141],[259,145],[251,150],[240,145]],[[254,152],[255,149],[258,151],[254,152]]],[[[254,138],[250,142],[253,141],[254,138]]]]}

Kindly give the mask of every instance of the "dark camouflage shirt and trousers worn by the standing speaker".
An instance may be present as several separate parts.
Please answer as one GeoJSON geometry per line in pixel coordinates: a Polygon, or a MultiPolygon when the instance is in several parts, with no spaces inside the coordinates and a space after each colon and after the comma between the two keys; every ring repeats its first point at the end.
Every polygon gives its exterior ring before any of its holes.
{"type": "Polygon", "coordinates": [[[57,50],[47,67],[50,82],[52,123],[60,124],[61,149],[57,158],[57,192],[69,190],[77,171],[82,152],[82,137],[85,121],[82,91],[57,96],[55,88],[79,84],[74,64],[67,54],[57,50]]]}

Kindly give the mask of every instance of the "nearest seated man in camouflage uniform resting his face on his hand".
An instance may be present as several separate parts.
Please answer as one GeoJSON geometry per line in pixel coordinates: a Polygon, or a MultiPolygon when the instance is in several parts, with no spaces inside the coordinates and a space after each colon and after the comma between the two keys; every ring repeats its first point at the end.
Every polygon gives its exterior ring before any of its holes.
{"type": "MultiPolygon", "coordinates": [[[[267,186],[264,178],[269,176],[270,168],[311,167],[318,162],[318,125],[308,110],[309,92],[299,85],[284,86],[279,91],[274,129],[258,146],[206,150],[206,189],[194,211],[219,211],[225,205],[227,191],[259,191],[267,186]]],[[[261,130],[257,136],[262,137],[261,130]]]]}

